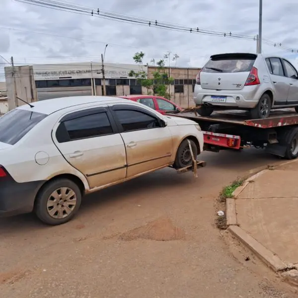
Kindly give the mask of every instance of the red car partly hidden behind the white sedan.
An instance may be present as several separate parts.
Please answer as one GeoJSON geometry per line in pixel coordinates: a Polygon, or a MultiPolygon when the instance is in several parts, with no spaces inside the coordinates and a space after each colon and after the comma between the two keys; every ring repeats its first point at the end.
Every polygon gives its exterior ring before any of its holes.
{"type": "Polygon", "coordinates": [[[120,96],[120,97],[145,104],[149,108],[152,108],[161,114],[165,114],[165,112],[174,112],[177,110],[178,111],[182,110],[179,106],[174,104],[172,101],[170,101],[164,97],[161,97],[161,96],[127,95],[127,96],[120,96]]]}

